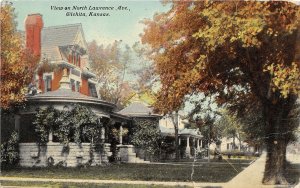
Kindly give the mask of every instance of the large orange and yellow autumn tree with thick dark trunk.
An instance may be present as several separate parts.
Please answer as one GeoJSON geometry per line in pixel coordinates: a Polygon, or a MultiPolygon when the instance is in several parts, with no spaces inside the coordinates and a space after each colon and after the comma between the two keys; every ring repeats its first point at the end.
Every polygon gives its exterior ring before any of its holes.
{"type": "Polygon", "coordinates": [[[176,110],[187,94],[200,92],[215,94],[238,116],[260,105],[267,146],[263,182],[286,183],[286,146],[296,128],[291,111],[300,90],[299,6],[171,3],[168,12],[144,21],[142,42],[152,48],[161,82],[156,108],[176,110]]]}

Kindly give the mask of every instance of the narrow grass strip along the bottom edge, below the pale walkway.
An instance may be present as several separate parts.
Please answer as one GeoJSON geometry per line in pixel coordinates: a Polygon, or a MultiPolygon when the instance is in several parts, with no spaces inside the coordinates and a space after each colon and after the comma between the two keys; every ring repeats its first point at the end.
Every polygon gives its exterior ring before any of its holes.
{"type": "MultiPolygon", "coordinates": [[[[93,183],[53,183],[53,182],[26,182],[26,181],[1,181],[0,186],[21,186],[21,187],[51,187],[51,188],[170,188],[174,186],[164,185],[132,185],[132,184],[93,184],[93,183]]],[[[175,188],[186,188],[187,186],[175,186],[175,188]]]]}

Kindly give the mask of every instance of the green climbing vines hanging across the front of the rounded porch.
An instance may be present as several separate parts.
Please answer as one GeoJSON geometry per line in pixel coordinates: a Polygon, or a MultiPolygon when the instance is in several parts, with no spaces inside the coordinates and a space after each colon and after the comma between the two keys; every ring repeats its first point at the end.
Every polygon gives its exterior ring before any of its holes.
{"type": "Polygon", "coordinates": [[[100,140],[102,124],[98,117],[85,106],[75,104],[70,111],[58,111],[53,107],[40,109],[34,121],[39,142],[48,141],[49,132],[57,137],[64,146],[74,141],[94,143],[100,140]]]}

